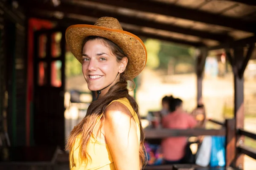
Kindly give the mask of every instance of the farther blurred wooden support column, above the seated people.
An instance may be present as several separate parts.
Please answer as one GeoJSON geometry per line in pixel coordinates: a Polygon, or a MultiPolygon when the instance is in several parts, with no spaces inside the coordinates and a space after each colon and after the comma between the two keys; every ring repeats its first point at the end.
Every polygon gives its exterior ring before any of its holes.
{"type": "Polygon", "coordinates": [[[197,61],[196,61],[196,75],[197,75],[197,104],[201,104],[202,100],[202,89],[203,89],[203,72],[205,60],[208,55],[208,51],[206,48],[201,48],[198,51],[197,61]]]}

